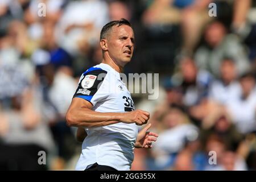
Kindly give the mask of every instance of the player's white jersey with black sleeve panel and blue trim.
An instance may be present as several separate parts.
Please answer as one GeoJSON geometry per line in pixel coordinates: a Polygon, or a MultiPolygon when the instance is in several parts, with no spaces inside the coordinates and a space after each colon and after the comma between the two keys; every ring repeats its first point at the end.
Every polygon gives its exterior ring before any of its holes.
{"type": "MultiPolygon", "coordinates": [[[[90,101],[92,110],[101,113],[123,113],[135,109],[119,73],[104,63],[82,74],[74,97],[90,101]]],[[[135,123],[119,122],[85,130],[88,136],[82,143],[76,170],[84,170],[96,162],[117,170],[130,170],[138,134],[135,123]]]]}

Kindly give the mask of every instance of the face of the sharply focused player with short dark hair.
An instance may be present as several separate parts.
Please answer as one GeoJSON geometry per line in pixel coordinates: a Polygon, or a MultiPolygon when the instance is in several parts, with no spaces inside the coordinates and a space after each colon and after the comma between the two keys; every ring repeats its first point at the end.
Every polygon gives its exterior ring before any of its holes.
{"type": "Polygon", "coordinates": [[[133,56],[134,33],[127,25],[114,26],[108,38],[109,56],[122,67],[129,63],[133,56]]]}

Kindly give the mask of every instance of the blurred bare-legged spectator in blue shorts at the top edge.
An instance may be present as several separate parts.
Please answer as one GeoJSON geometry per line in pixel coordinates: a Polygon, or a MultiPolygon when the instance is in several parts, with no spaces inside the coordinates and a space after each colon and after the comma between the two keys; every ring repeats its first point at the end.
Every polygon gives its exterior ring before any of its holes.
{"type": "Polygon", "coordinates": [[[211,19],[207,7],[211,0],[155,0],[144,11],[142,22],[146,26],[180,24],[183,37],[181,52],[191,56],[200,39],[205,23],[211,19]]]}

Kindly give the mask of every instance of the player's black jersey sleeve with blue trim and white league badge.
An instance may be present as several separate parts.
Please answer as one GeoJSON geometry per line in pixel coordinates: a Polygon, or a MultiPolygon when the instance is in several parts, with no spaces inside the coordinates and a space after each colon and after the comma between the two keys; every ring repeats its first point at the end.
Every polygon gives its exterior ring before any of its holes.
{"type": "Polygon", "coordinates": [[[73,98],[83,98],[95,105],[104,99],[104,97],[108,97],[106,94],[102,95],[102,93],[99,93],[106,74],[107,72],[101,68],[90,68],[88,71],[82,73],[73,98]]]}

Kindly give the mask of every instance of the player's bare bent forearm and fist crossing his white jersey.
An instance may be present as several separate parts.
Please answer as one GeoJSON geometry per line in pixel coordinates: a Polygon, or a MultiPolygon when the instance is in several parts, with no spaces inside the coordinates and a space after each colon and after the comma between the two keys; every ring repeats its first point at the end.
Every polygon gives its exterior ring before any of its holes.
{"type": "Polygon", "coordinates": [[[89,101],[82,98],[73,98],[66,115],[67,125],[85,128],[107,126],[118,122],[143,125],[149,119],[149,113],[143,110],[127,113],[100,113],[91,110],[92,106],[89,101]]]}

